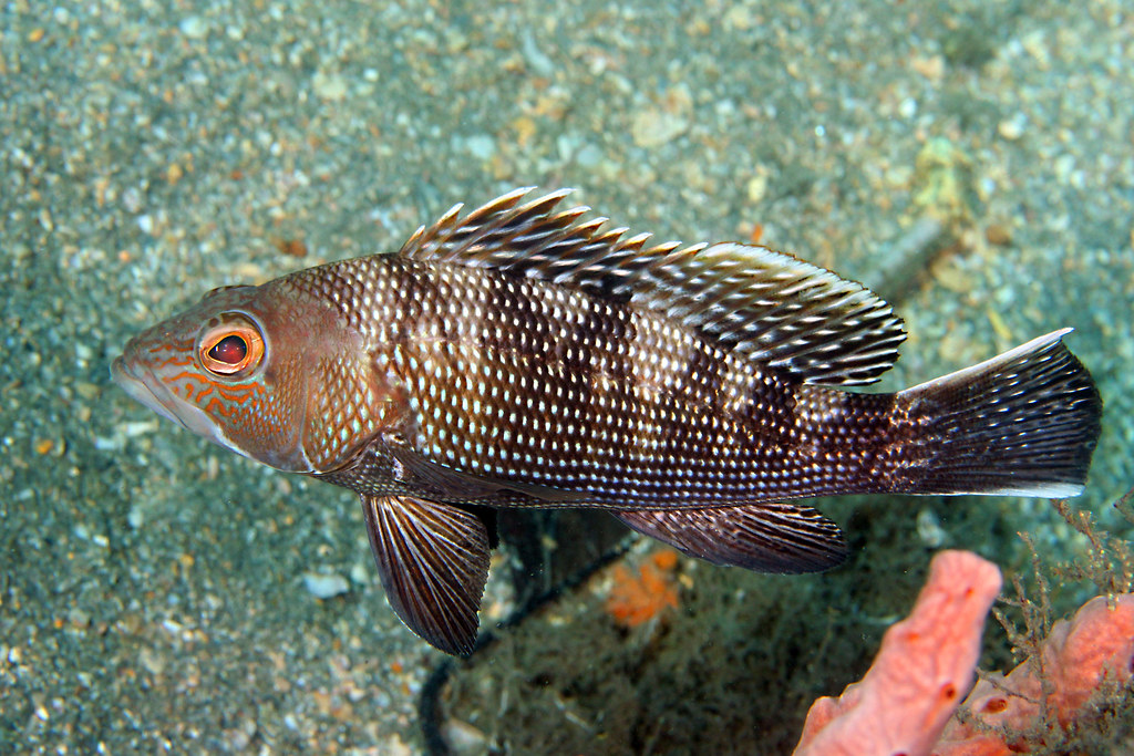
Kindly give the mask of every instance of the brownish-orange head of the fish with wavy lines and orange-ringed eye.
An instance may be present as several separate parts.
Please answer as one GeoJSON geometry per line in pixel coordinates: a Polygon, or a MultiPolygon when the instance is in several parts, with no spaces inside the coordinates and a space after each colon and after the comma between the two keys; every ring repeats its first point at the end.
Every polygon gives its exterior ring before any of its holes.
{"type": "Polygon", "coordinates": [[[213,443],[277,469],[316,472],[303,443],[306,368],[333,349],[320,339],[335,328],[325,308],[298,304],[272,283],[214,289],[130,339],[111,376],[213,443]]]}

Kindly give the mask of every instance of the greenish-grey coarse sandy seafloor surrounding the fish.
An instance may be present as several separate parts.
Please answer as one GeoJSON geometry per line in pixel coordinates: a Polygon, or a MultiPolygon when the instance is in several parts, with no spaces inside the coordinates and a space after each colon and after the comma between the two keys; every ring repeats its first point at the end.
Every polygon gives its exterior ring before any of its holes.
{"type": "MultiPolygon", "coordinates": [[[[1107,402],[1077,503],[1116,523],[1106,504],[1134,483],[1131,60],[1116,0],[3,3],[0,753],[423,748],[439,654],[387,608],[354,496],[159,421],[108,366],[210,288],[392,250],[514,186],[577,187],[662,238],[760,233],[868,283],[960,197],[959,244],[899,281],[911,338],[885,385],[1073,325],[1107,402]],[[930,143],[955,150],[960,190],[926,188],[930,143]],[[320,600],[313,574],[348,591],[320,600]]],[[[937,542],[993,559],[950,512],[1076,549],[1043,502],[897,500],[902,604],[932,553],[926,507],[937,542]]],[[[540,727],[575,727],[558,716],[540,727]]]]}

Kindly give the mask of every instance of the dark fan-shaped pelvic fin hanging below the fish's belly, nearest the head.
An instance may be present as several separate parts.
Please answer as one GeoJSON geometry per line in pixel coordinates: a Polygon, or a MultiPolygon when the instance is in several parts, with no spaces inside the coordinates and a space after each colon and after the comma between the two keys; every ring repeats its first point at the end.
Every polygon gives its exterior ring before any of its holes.
{"type": "Polygon", "coordinates": [[[414,496],[362,496],[387,600],[431,645],[468,655],[489,575],[489,535],[475,513],[414,496]]]}

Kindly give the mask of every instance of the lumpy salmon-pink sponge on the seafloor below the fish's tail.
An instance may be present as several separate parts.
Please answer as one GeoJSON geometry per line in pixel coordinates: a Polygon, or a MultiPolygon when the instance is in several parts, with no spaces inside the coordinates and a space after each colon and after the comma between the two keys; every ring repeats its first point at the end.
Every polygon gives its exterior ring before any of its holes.
{"type": "MultiPolygon", "coordinates": [[[[882,638],[861,682],[807,712],[796,756],[1009,756],[1027,753],[1026,731],[1049,717],[1067,727],[1105,680],[1134,674],[1134,594],[1092,598],[1061,620],[1040,648],[1008,673],[972,685],[984,617],[1000,591],[1000,571],[975,554],[933,558],[908,619],[882,638]],[[951,717],[951,719],[950,719],[951,717]]],[[[1051,720],[1049,720],[1051,721],[1051,720]]]]}

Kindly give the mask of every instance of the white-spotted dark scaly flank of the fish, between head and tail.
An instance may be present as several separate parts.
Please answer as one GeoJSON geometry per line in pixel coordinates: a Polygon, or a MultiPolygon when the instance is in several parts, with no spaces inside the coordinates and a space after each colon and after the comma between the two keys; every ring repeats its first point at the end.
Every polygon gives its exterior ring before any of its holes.
{"type": "MultiPolygon", "coordinates": [[[[335,303],[374,369],[403,387],[412,422],[399,430],[463,473],[579,493],[572,506],[625,509],[879,490],[900,461],[886,453],[889,438],[900,438],[890,394],[789,390],[628,303],[397,257],[337,265],[330,287],[323,278],[315,269],[287,282],[335,303]]],[[[372,392],[341,381],[319,388],[319,448],[374,432],[358,417],[369,416],[372,392]]],[[[312,461],[340,464],[335,455],[312,461]]],[[[352,487],[373,475],[352,484],[335,472],[352,487]]]]}

